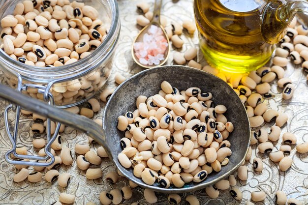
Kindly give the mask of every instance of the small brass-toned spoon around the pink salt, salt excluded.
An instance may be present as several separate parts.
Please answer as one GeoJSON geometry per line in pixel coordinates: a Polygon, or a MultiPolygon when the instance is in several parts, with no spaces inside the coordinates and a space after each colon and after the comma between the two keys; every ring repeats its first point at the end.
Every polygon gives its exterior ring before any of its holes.
{"type": "Polygon", "coordinates": [[[170,53],[170,42],[169,42],[169,38],[168,38],[168,35],[165,31],[165,29],[163,28],[163,26],[160,24],[160,8],[161,8],[161,1],[162,0],[155,0],[154,2],[154,12],[153,12],[153,19],[152,21],[150,22],[149,25],[147,25],[146,27],[144,27],[137,35],[137,37],[135,38],[134,42],[133,42],[133,45],[132,45],[132,48],[131,48],[131,55],[134,59],[134,61],[140,65],[141,67],[144,67],[144,68],[153,68],[153,67],[156,67],[156,66],[161,66],[163,65],[168,57],[169,57],[169,53],[170,53]],[[143,39],[143,36],[144,34],[146,34],[148,32],[148,30],[150,29],[151,25],[155,25],[157,26],[158,28],[162,29],[163,33],[164,33],[164,37],[167,39],[167,42],[168,42],[168,48],[166,49],[165,51],[165,54],[164,54],[164,60],[161,60],[160,63],[158,65],[144,65],[142,63],[140,63],[139,59],[136,57],[135,55],[135,51],[134,51],[134,43],[135,42],[140,42],[142,41],[143,39]]]}

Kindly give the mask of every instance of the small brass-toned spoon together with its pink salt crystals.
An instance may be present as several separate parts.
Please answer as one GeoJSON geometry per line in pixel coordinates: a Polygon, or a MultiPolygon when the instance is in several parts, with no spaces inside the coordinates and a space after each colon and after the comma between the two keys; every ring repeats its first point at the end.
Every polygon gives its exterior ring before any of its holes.
{"type": "Polygon", "coordinates": [[[138,33],[132,45],[132,57],[143,68],[161,66],[169,57],[169,38],[159,20],[161,1],[155,0],[152,21],[138,33]]]}

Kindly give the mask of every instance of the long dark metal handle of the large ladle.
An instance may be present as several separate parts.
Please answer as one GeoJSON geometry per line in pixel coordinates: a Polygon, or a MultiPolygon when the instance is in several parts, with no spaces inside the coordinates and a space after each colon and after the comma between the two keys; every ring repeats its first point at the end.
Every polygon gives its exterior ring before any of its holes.
{"type": "Polygon", "coordinates": [[[67,126],[73,127],[86,133],[97,143],[102,145],[105,148],[109,158],[113,160],[110,149],[106,142],[105,131],[102,127],[100,127],[91,119],[55,108],[45,102],[33,99],[27,95],[24,95],[12,88],[1,84],[0,98],[8,100],[13,104],[19,105],[20,107],[27,109],[33,113],[36,113],[40,116],[48,117],[54,121],[61,122],[67,126]]]}

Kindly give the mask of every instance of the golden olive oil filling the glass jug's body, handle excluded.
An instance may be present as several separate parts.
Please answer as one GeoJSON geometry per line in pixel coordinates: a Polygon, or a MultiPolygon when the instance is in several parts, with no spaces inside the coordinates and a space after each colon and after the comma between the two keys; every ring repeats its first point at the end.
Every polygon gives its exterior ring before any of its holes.
{"type": "Polygon", "coordinates": [[[264,40],[261,31],[262,12],[268,1],[194,1],[200,47],[210,65],[245,73],[271,59],[275,46],[264,40]]]}

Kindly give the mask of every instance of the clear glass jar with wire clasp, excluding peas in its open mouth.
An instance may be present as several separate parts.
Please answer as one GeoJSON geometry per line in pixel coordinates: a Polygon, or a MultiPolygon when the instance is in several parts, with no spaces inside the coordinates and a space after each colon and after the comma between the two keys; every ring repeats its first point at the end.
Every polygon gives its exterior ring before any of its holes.
{"type": "MultiPolygon", "coordinates": [[[[21,0],[0,2],[0,19],[12,14],[15,5],[21,0]]],[[[96,8],[104,25],[110,26],[105,40],[92,54],[78,61],[59,67],[36,67],[21,63],[0,51],[0,69],[7,83],[17,87],[18,73],[23,84],[51,86],[55,105],[60,108],[71,107],[91,98],[108,80],[113,62],[113,54],[120,36],[120,18],[117,0],[86,0],[86,5],[96,8]]],[[[24,90],[34,98],[43,99],[37,89],[24,90]]]]}

